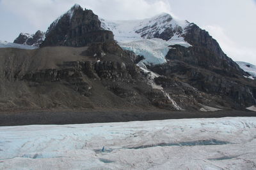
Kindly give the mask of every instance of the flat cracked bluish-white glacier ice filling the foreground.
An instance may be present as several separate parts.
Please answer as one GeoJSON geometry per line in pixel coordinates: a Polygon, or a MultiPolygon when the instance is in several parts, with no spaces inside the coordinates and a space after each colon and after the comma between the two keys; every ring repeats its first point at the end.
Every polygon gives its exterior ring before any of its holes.
{"type": "Polygon", "coordinates": [[[0,169],[256,169],[256,118],[0,127],[0,169]]]}

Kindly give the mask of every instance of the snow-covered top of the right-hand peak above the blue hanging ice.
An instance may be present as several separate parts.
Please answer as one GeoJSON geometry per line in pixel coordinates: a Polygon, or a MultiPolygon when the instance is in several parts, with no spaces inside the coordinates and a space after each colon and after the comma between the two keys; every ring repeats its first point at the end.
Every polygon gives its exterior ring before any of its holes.
{"type": "Polygon", "coordinates": [[[161,38],[166,41],[173,36],[182,36],[189,22],[177,20],[168,13],[161,13],[144,20],[108,21],[100,19],[103,29],[112,31],[116,41],[136,41],[161,38]]]}

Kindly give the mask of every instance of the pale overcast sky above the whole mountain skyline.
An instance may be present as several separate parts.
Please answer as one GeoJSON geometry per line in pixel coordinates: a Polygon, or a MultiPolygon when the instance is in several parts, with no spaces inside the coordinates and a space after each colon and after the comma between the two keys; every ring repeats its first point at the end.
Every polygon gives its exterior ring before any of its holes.
{"type": "Polygon", "coordinates": [[[256,0],[0,0],[0,39],[46,31],[75,3],[107,20],[170,13],[209,31],[233,60],[256,64],[256,0]]]}

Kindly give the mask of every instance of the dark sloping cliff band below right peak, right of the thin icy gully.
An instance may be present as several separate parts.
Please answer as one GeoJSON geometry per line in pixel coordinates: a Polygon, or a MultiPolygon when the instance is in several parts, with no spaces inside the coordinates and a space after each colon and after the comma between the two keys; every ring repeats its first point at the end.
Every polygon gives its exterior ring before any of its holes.
{"type": "MultiPolygon", "coordinates": [[[[253,94],[256,89],[255,82],[246,78],[218,74],[179,60],[170,60],[167,64],[152,66],[150,69],[157,74],[188,83],[198,92],[220,96],[224,101],[233,103],[231,105],[234,109],[243,109],[256,103],[256,96],[253,94]]],[[[159,84],[163,87],[173,85],[168,81],[161,81],[159,84]]],[[[196,97],[195,94],[193,96],[196,97]]]]}

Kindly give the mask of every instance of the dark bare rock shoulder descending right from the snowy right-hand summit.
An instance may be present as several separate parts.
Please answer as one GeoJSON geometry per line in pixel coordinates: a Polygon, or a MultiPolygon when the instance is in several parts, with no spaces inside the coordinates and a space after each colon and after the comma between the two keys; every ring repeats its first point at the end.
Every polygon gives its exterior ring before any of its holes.
{"type": "Polygon", "coordinates": [[[166,59],[180,60],[192,66],[203,67],[219,74],[243,76],[246,73],[221,50],[218,42],[207,31],[195,24],[186,28],[184,39],[191,44],[189,48],[175,45],[166,55],[166,59]]]}

